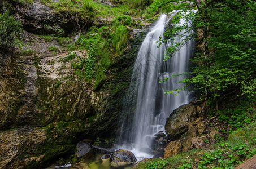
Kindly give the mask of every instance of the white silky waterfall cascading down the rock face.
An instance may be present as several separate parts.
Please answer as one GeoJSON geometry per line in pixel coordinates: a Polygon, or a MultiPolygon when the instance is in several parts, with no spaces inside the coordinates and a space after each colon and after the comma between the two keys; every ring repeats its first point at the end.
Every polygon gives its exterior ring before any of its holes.
{"type": "MultiPolygon", "coordinates": [[[[189,71],[189,59],[193,56],[193,40],[186,43],[169,60],[164,61],[167,44],[157,48],[159,37],[163,37],[167,15],[163,14],[142,42],[134,65],[131,85],[124,107],[122,131],[118,149],[131,150],[138,160],[153,157],[150,151],[152,140],[159,131],[164,131],[166,118],[174,109],[189,102],[189,92],[165,95],[164,91],[180,87],[179,81],[186,75],[159,83],[172,74],[189,71]]],[[[183,21],[184,22],[184,21],[183,21]]],[[[184,31],[180,34],[184,34],[184,31]]],[[[181,39],[175,37],[175,42],[181,39]]]]}

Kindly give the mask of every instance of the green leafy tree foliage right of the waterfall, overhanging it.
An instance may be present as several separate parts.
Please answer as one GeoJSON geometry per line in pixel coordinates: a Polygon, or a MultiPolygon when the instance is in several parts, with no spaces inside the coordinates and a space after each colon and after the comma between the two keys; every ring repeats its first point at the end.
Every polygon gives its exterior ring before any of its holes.
{"type": "MultiPolygon", "coordinates": [[[[194,1],[196,3],[196,1],[194,1]]],[[[174,22],[181,17],[193,21],[193,27],[180,25],[166,32],[166,36],[176,35],[185,29],[197,29],[198,42],[202,44],[202,53],[193,62],[191,79],[180,83],[186,86],[194,84],[202,96],[218,99],[220,96],[233,92],[237,96],[254,97],[256,94],[256,34],[255,6],[253,1],[207,1],[201,5],[196,3],[198,12],[179,12],[174,22]]],[[[181,43],[168,48],[168,57],[188,41],[194,34],[189,35],[181,43]]],[[[163,39],[162,42],[164,42],[163,39]]],[[[177,88],[167,93],[175,93],[186,88],[177,88]]]]}

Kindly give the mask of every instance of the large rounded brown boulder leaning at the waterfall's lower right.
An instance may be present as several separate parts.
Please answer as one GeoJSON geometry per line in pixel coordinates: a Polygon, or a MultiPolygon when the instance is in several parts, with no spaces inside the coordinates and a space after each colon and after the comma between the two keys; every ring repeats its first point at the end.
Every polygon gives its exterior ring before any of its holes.
{"type": "Polygon", "coordinates": [[[193,104],[185,104],[173,110],[166,119],[166,134],[173,140],[188,131],[189,123],[194,121],[197,111],[193,104]]]}

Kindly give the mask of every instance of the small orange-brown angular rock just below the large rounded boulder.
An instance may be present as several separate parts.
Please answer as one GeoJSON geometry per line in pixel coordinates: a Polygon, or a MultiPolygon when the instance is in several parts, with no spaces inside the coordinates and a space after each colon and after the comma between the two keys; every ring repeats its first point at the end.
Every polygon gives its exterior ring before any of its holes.
{"type": "Polygon", "coordinates": [[[164,149],[164,158],[173,157],[174,155],[181,153],[181,150],[182,144],[179,140],[171,141],[164,149]]]}

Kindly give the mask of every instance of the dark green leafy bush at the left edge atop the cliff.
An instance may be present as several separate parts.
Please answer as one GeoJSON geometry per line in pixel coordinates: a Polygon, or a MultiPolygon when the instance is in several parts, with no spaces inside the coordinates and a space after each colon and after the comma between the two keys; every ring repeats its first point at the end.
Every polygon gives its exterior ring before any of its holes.
{"type": "Polygon", "coordinates": [[[23,27],[20,21],[16,21],[9,12],[0,14],[0,48],[8,50],[8,48],[19,47],[22,37],[23,27]]]}

